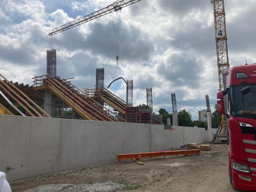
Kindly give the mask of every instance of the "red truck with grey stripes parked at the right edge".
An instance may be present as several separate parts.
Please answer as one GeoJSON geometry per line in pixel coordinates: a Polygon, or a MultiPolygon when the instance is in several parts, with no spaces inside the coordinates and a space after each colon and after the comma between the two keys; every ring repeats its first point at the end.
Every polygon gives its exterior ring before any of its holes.
{"type": "Polygon", "coordinates": [[[223,83],[217,107],[226,115],[230,183],[256,191],[256,63],[227,69],[223,83]]]}

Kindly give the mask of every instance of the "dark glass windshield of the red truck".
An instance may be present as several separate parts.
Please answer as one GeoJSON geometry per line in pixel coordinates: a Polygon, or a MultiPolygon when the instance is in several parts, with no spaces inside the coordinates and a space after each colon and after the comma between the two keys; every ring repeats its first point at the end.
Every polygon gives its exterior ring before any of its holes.
{"type": "Polygon", "coordinates": [[[256,115],[256,84],[247,84],[250,88],[241,93],[242,85],[230,87],[230,113],[232,115],[256,115]]]}

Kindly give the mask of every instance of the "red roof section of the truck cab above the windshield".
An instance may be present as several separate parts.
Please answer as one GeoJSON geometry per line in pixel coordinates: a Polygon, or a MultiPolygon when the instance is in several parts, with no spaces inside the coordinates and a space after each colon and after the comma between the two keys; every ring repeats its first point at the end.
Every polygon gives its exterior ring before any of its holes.
{"type": "Polygon", "coordinates": [[[256,63],[250,65],[238,65],[230,68],[227,76],[227,87],[241,85],[246,81],[247,84],[256,82],[256,63]]]}

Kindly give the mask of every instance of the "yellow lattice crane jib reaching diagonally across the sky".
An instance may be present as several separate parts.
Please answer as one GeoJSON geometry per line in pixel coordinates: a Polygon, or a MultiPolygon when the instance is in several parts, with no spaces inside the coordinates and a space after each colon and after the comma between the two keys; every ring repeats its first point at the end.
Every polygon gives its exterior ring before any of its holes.
{"type": "Polygon", "coordinates": [[[98,11],[94,12],[94,13],[91,13],[89,15],[86,15],[84,17],[76,19],[74,21],[71,21],[70,23],[67,23],[67,24],[62,25],[60,27],[57,27],[57,28],[53,29],[52,31],[50,31],[48,33],[48,35],[52,36],[52,35],[55,35],[57,33],[62,32],[62,31],[66,31],[70,28],[81,25],[83,23],[86,23],[90,20],[101,17],[103,15],[106,15],[106,14],[109,14],[109,13],[112,13],[112,12],[115,12],[115,11],[119,11],[122,8],[126,7],[126,6],[131,5],[133,3],[137,3],[139,1],[141,1],[141,0],[122,0],[122,1],[115,2],[115,3],[107,6],[106,8],[103,8],[101,10],[98,10],[98,11]]]}

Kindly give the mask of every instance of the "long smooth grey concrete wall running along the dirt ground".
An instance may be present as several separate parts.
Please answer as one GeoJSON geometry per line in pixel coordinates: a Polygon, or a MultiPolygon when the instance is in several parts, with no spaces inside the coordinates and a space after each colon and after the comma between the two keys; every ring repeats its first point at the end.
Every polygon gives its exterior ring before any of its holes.
{"type": "Polygon", "coordinates": [[[0,171],[9,182],[116,161],[116,154],[210,142],[216,129],[0,115],[0,171]],[[10,166],[14,169],[6,170],[10,166]]]}

